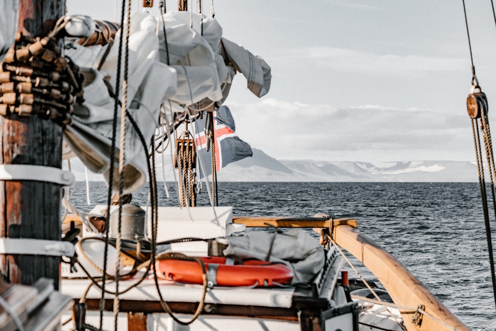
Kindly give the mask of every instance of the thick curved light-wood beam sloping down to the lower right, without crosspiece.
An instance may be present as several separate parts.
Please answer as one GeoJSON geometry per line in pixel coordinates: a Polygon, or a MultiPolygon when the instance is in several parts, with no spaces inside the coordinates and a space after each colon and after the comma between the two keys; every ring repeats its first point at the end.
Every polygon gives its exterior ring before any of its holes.
{"type": "Polygon", "coordinates": [[[409,331],[470,330],[439,302],[414,275],[371,238],[348,225],[334,226],[332,238],[339,246],[353,254],[372,271],[396,304],[415,309],[418,305],[424,304],[427,314],[452,327],[439,324],[427,316],[423,317],[420,326],[416,326],[412,323],[412,311],[400,309],[403,321],[409,331]]]}

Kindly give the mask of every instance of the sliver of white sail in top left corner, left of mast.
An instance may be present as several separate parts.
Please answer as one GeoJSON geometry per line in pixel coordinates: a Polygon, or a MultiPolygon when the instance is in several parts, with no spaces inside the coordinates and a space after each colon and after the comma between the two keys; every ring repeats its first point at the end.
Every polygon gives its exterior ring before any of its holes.
{"type": "Polygon", "coordinates": [[[14,43],[17,30],[18,0],[0,2],[0,61],[14,43]]]}

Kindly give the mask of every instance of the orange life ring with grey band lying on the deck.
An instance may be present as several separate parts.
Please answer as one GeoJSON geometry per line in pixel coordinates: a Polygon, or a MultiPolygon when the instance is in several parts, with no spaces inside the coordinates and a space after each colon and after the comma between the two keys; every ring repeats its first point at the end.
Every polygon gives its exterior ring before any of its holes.
{"type": "MultiPolygon", "coordinates": [[[[219,286],[276,286],[291,284],[293,273],[283,264],[260,260],[245,260],[243,265],[226,265],[225,257],[201,257],[207,279],[219,286]]],[[[155,263],[160,278],[177,282],[203,284],[201,267],[197,262],[160,260],[155,263]]]]}

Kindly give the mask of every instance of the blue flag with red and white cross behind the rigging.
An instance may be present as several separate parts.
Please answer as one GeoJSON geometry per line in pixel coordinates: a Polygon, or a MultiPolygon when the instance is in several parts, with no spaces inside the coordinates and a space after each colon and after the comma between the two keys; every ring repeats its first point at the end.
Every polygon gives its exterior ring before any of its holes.
{"type": "MultiPolygon", "coordinates": [[[[199,162],[205,168],[205,176],[201,165],[197,165],[200,170],[200,178],[212,174],[211,150],[207,151],[207,141],[205,137],[205,118],[196,121],[196,148],[199,162]]],[[[252,156],[250,145],[241,140],[234,132],[236,130],[231,111],[226,106],[220,106],[213,112],[213,129],[215,141],[215,161],[216,169],[219,171],[231,162],[235,162],[245,157],[252,156]]],[[[208,129],[207,129],[208,130],[208,129]]],[[[207,133],[208,135],[208,133],[207,133]]]]}

